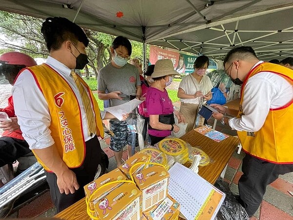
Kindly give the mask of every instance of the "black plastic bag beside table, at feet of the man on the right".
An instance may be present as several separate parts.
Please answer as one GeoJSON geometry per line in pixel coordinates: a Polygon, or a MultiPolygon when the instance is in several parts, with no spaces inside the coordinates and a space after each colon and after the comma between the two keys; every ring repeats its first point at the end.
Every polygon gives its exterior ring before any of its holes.
{"type": "Polygon", "coordinates": [[[249,220],[247,212],[233,196],[227,182],[217,179],[214,186],[226,194],[215,220],[249,220]]]}

